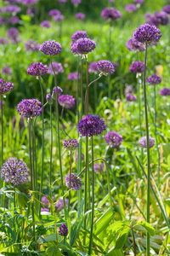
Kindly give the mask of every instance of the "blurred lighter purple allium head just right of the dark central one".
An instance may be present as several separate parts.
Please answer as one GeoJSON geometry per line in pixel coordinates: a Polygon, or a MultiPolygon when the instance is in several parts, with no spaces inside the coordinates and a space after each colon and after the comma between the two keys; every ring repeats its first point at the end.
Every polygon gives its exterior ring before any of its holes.
{"type": "Polygon", "coordinates": [[[116,131],[109,131],[105,134],[105,142],[111,147],[119,147],[122,143],[122,136],[116,131]]]}

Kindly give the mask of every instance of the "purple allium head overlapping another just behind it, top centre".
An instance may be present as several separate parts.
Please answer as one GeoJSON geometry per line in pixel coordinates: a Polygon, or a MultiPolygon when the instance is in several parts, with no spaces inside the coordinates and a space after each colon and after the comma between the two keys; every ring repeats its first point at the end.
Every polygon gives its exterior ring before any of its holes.
{"type": "Polygon", "coordinates": [[[71,51],[74,55],[88,55],[93,49],[95,49],[96,44],[93,40],[89,38],[80,38],[71,46],[71,51]]]}

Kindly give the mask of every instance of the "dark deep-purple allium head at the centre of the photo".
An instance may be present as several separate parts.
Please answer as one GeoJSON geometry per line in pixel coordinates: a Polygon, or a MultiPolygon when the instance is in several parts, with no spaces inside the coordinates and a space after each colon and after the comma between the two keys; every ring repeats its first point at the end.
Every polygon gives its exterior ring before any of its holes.
{"type": "Polygon", "coordinates": [[[77,131],[81,137],[93,137],[105,131],[106,125],[104,119],[100,119],[99,115],[85,115],[77,124],[77,131]]]}

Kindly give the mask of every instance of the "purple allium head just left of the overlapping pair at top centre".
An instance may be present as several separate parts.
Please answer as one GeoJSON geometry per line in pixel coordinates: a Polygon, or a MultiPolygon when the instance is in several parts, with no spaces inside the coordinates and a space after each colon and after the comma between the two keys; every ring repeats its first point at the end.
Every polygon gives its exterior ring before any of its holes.
{"type": "Polygon", "coordinates": [[[40,44],[39,50],[41,50],[45,55],[58,55],[61,52],[61,45],[55,40],[48,40],[40,44]]]}

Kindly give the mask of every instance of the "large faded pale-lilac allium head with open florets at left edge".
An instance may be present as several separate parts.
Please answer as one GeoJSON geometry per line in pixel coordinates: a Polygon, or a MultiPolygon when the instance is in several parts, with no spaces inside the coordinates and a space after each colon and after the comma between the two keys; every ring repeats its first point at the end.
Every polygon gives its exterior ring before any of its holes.
{"type": "Polygon", "coordinates": [[[14,183],[14,185],[25,182],[29,176],[26,163],[14,157],[9,157],[4,162],[0,172],[4,182],[14,183]]]}

